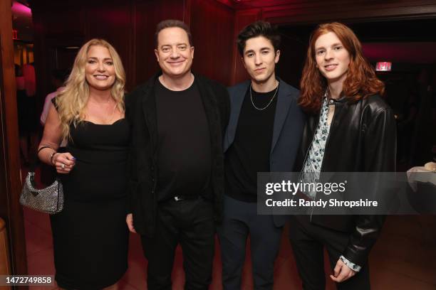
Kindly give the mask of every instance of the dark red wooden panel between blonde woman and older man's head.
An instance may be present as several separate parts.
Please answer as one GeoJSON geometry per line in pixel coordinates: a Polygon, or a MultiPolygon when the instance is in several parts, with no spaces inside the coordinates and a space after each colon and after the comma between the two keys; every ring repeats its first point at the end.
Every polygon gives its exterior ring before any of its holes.
{"type": "Polygon", "coordinates": [[[165,19],[184,20],[184,1],[139,1],[135,2],[135,77],[139,85],[151,77],[159,65],[155,57],[155,29],[165,19]]]}

